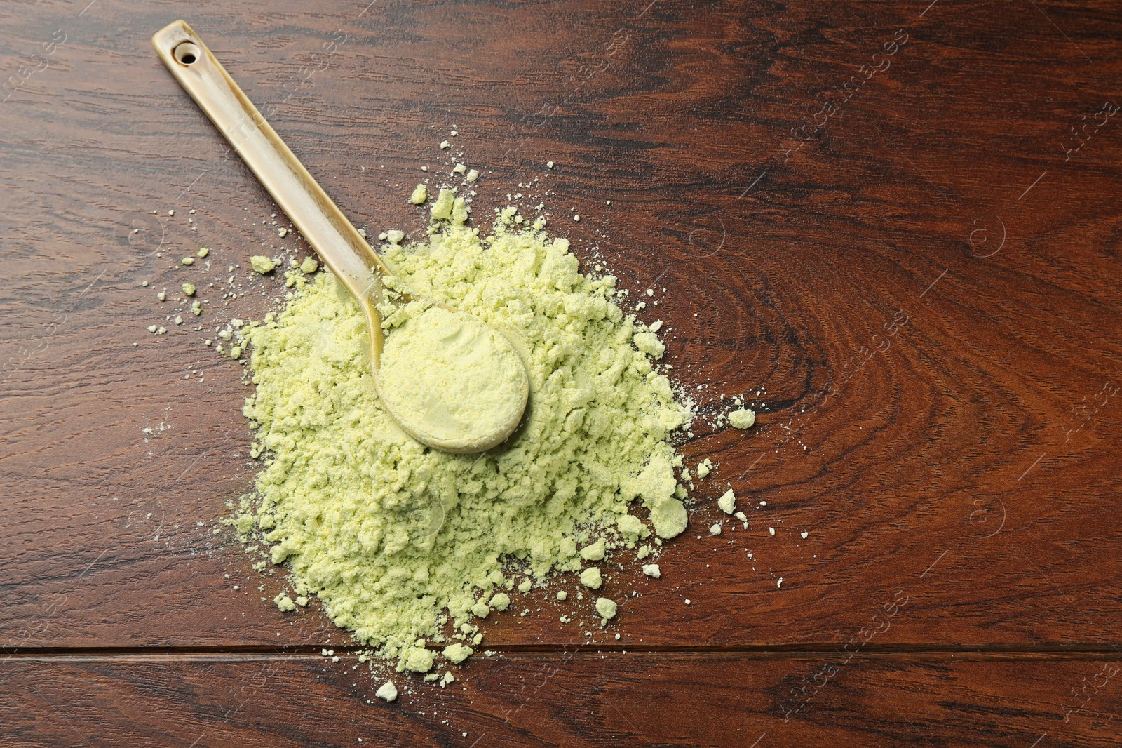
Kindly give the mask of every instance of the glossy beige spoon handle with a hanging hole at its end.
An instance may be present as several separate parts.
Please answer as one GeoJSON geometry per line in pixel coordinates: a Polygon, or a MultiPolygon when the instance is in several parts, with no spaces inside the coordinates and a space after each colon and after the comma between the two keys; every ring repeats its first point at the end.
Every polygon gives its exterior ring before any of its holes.
{"type": "Polygon", "coordinates": [[[307,173],[202,39],[177,20],[151,37],[156,53],[180,85],[226,136],[276,203],[320,254],[370,318],[375,356],[381,349],[380,276],[389,268],[307,173]]]}

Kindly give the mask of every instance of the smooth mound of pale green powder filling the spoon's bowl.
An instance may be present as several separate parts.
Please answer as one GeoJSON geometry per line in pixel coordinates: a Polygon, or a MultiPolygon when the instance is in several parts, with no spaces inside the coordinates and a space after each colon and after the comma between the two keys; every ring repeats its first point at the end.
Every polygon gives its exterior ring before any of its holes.
{"type": "Polygon", "coordinates": [[[502,334],[422,301],[393,309],[383,327],[378,392],[406,431],[449,451],[481,451],[514,430],[530,383],[502,334]]]}

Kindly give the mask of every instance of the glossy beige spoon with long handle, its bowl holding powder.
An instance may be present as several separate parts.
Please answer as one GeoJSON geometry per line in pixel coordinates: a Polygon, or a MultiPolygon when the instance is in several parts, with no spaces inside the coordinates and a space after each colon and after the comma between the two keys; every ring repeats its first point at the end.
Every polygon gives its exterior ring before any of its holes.
{"type": "MultiPolygon", "coordinates": [[[[408,412],[402,408],[402,403],[408,400],[402,396],[405,393],[384,392],[378,376],[385,338],[377,305],[386,298],[381,279],[392,275],[389,268],[307,173],[190,26],[177,20],[157,31],[151,37],[151,43],[180,85],[221,130],[293,225],[366,312],[370,328],[370,362],[375,386],[390,417],[413,438],[445,451],[482,451],[509,437],[522,420],[530,393],[525,366],[509,341],[477,317],[440,304],[443,309],[462,316],[457,318],[458,323],[478,336],[471,339],[490,340],[495,344],[493,347],[496,348],[496,355],[513,354],[518,358],[515,378],[521,378],[521,383],[516,381],[513,386],[506,387],[509,395],[495,409],[496,418],[458,423],[456,429],[442,428],[439,435],[434,434],[435,429],[426,428],[426,421],[431,425],[434,418],[445,418],[447,413],[462,405],[463,403],[452,401],[454,393],[443,393],[442,396],[448,400],[443,403],[432,402],[430,399],[430,412],[408,412]],[[480,332],[484,335],[479,335],[480,332]],[[450,434],[451,431],[454,434],[450,434]]],[[[460,336],[460,339],[463,337],[460,336]]],[[[479,348],[476,347],[475,353],[478,352],[479,348]]],[[[478,356],[473,363],[478,370],[478,356]]],[[[494,390],[489,389],[488,392],[494,390]]]]}

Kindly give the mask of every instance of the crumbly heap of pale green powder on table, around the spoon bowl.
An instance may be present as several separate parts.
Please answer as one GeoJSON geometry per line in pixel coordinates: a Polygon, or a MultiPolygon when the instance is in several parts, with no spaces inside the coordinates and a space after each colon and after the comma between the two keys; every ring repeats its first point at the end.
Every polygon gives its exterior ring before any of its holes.
{"type": "Polygon", "coordinates": [[[293,271],[285,309],[245,334],[263,468],[231,520],[288,565],[298,602],[319,596],[338,626],[413,671],[432,666],[426,644],[467,656],[460,642],[479,644],[479,619],[505,610],[508,591],[643,544],[651,531],[629,509],[645,507],[659,538],[687,522],[670,438],[691,413],[652,364],[662,343],[615,303],[615,279],[581,275],[565,239],[513,208],[481,238],[451,191],[435,206],[426,241],[384,257],[399,289],[514,344],[530,374],[524,422],[481,454],[413,440],[375,394],[358,305],[329,273],[293,271]]]}

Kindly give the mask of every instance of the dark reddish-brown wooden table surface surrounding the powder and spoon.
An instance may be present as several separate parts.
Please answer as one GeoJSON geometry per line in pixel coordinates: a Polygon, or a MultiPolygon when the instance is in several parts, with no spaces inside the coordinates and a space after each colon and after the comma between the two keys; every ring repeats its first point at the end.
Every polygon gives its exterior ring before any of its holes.
{"type": "Polygon", "coordinates": [[[1118,9],[88,2],[0,7],[4,746],[1119,745],[1118,9]],[[480,224],[548,192],[660,289],[703,412],[762,391],[682,447],[720,466],[663,578],[608,587],[618,641],[543,605],[385,704],[260,602],[213,532],[248,387],[202,338],[277,285],[202,331],[155,294],[298,239],[153,53],[176,18],[358,225],[420,231],[456,127],[480,224]]]}

